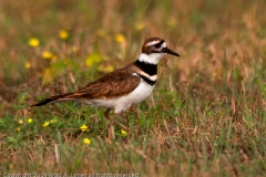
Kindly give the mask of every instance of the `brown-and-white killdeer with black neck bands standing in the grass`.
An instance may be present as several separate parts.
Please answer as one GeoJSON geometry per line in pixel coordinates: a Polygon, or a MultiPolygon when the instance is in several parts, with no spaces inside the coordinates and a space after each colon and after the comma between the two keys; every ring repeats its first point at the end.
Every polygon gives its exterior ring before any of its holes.
{"type": "Polygon", "coordinates": [[[121,113],[144,101],[157,81],[157,64],[165,54],[180,56],[170,50],[163,39],[150,38],[139,59],[125,67],[115,70],[73,93],[51,96],[32,106],[62,101],[78,101],[95,107],[121,113]]]}

